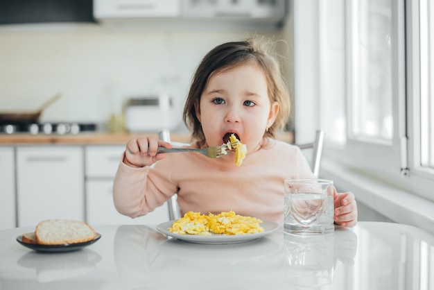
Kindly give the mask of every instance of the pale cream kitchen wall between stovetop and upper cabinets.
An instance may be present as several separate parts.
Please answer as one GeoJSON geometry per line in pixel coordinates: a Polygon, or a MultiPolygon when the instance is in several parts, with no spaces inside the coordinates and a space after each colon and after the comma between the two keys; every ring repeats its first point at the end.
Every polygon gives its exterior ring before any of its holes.
{"type": "Polygon", "coordinates": [[[105,123],[116,106],[116,92],[128,99],[166,90],[174,94],[181,114],[202,56],[221,42],[254,33],[287,39],[284,30],[255,28],[141,31],[94,24],[0,26],[0,111],[37,110],[61,92],[62,98],[44,111],[41,121],[105,123]]]}

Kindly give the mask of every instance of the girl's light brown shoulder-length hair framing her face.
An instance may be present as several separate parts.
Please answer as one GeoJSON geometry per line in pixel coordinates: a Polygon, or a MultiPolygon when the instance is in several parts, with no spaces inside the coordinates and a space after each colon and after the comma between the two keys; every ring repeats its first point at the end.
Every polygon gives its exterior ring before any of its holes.
{"type": "Polygon", "coordinates": [[[277,129],[284,129],[290,114],[290,97],[286,83],[281,76],[279,63],[272,56],[272,42],[265,37],[251,37],[241,42],[227,42],[216,46],[202,58],[193,76],[189,94],[184,106],[183,119],[191,132],[191,142],[205,144],[205,135],[198,117],[196,105],[211,75],[225,69],[232,69],[246,63],[254,63],[262,69],[268,85],[270,103],[279,103],[275,122],[264,136],[275,137],[277,129]]]}

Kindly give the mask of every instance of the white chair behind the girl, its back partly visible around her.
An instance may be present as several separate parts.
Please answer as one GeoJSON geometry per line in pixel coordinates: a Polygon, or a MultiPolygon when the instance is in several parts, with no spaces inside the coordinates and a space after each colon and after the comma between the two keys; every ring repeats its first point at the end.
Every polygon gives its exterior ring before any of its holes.
{"type": "MultiPolygon", "coordinates": [[[[165,142],[171,142],[171,134],[169,130],[162,130],[159,133],[159,139],[165,141],[165,142]]],[[[174,145],[182,145],[182,143],[179,142],[171,142],[174,145]]],[[[317,130],[315,135],[315,141],[312,143],[307,144],[300,144],[297,145],[300,149],[306,150],[306,149],[312,149],[311,154],[311,168],[313,171],[313,174],[315,176],[319,176],[320,173],[320,165],[321,165],[321,157],[322,157],[322,147],[324,146],[324,131],[323,130],[317,130]]],[[[177,195],[174,194],[171,199],[167,201],[168,205],[168,216],[169,219],[175,220],[180,219],[181,217],[181,211],[180,207],[177,204],[177,195]]]]}

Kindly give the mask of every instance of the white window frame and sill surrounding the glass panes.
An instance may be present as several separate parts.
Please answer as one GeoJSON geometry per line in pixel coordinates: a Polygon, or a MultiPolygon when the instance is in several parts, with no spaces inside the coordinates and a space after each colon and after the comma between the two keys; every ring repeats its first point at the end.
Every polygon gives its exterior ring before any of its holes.
{"type": "MultiPolygon", "coordinates": [[[[351,16],[354,1],[345,5],[346,23],[351,16]]],[[[321,10],[321,8],[320,8],[321,10]]],[[[420,75],[419,75],[419,0],[392,1],[392,114],[393,137],[388,142],[372,143],[351,136],[347,98],[351,96],[351,29],[345,31],[346,57],[346,142],[336,144],[327,140],[324,157],[335,160],[354,172],[381,180],[393,187],[434,201],[434,170],[424,168],[420,162],[420,75]]],[[[434,19],[433,19],[434,21],[434,19]]],[[[320,58],[320,71],[324,65],[320,58]]],[[[325,68],[327,71],[327,68],[325,68]]],[[[320,99],[322,99],[320,97],[320,99]]]]}

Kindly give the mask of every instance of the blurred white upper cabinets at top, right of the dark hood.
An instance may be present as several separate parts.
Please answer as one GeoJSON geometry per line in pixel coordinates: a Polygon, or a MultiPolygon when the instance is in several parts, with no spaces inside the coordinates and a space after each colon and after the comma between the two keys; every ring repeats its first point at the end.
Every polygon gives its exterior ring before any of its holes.
{"type": "Polygon", "coordinates": [[[94,0],[99,24],[149,28],[279,27],[287,10],[286,0],[94,0]]]}

